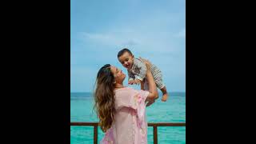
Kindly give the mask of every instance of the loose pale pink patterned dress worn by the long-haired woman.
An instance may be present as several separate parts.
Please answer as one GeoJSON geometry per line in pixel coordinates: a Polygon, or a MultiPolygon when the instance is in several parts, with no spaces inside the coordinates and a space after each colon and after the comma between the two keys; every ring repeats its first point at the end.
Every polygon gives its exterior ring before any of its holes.
{"type": "Polygon", "coordinates": [[[130,87],[115,90],[114,123],[101,144],[147,143],[146,97],[149,92],[130,87]]]}

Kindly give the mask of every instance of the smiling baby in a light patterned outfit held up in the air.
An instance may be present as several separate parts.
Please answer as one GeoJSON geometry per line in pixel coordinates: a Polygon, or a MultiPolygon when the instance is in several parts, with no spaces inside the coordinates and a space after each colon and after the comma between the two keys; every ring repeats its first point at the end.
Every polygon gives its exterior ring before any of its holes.
{"type": "MultiPolygon", "coordinates": [[[[148,89],[146,81],[146,65],[140,58],[134,58],[134,55],[128,49],[122,49],[118,52],[118,61],[128,70],[128,84],[141,84],[142,90],[148,89]],[[145,83],[145,84],[144,84],[145,83]]],[[[168,98],[165,84],[162,82],[162,72],[154,64],[150,64],[151,73],[158,89],[162,91],[162,102],[168,98]]]]}

